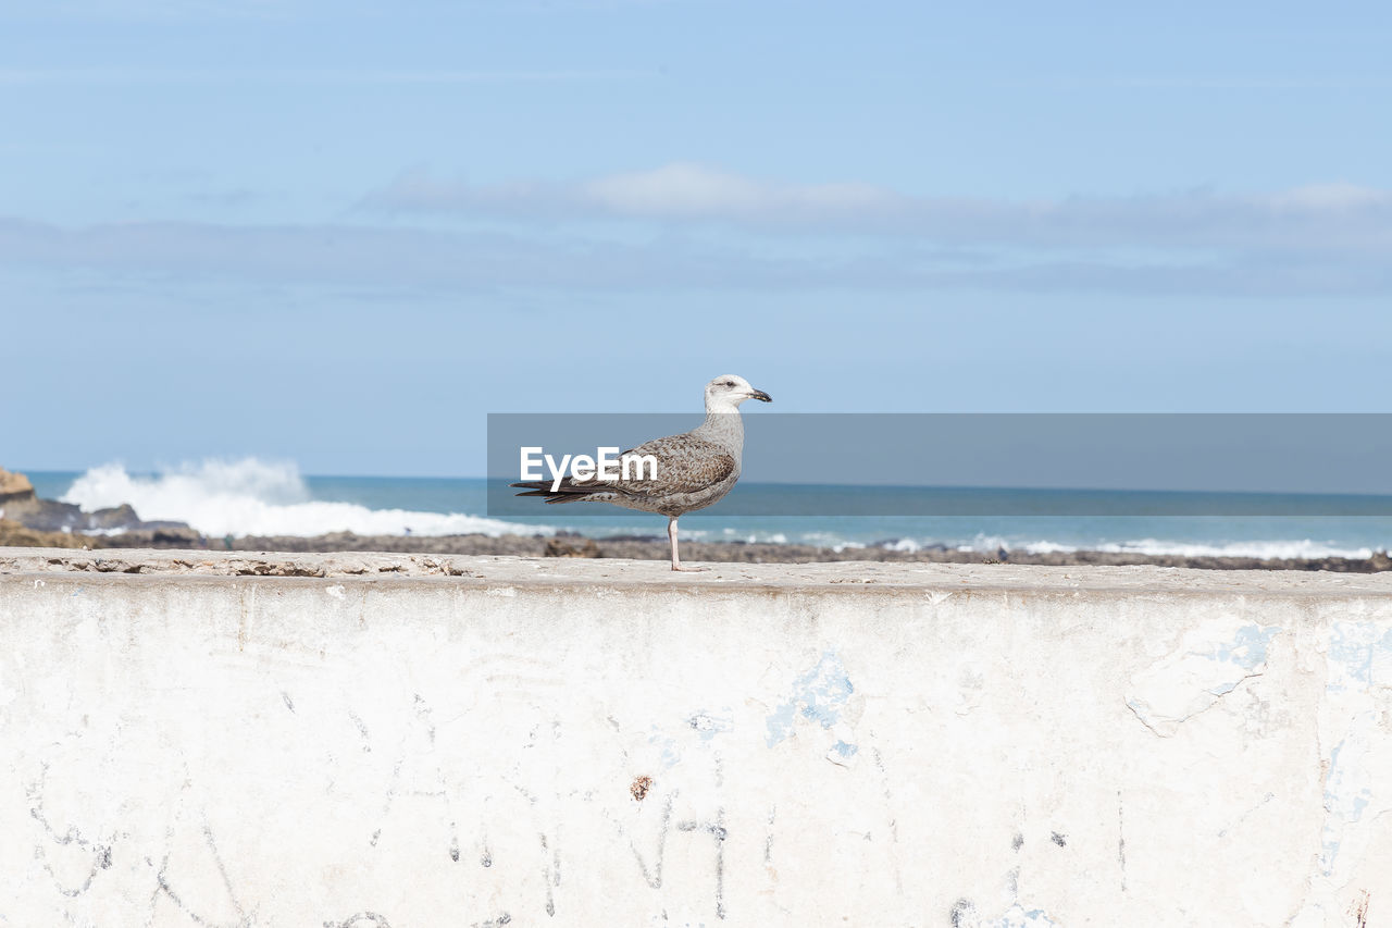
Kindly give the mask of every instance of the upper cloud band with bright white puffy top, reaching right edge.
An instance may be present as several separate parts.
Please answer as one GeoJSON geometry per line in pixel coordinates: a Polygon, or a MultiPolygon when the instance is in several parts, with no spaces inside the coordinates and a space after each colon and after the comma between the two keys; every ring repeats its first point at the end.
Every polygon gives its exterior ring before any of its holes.
{"type": "Polygon", "coordinates": [[[919,196],[863,183],[782,184],[675,163],[569,184],[473,185],[415,171],[373,192],[365,205],[400,213],[901,235],[954,247],[1392,252],[1392,191],[1353,184],[1247,195],[1002,201],[919,196]]]}

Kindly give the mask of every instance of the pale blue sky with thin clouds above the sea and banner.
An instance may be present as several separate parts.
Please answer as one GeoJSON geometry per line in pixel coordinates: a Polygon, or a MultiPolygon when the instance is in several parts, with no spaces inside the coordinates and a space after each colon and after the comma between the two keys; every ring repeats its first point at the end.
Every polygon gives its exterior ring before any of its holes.
{"type": "Polygon", "coordinates": [[[487,412],[1389,411],[1377,3],[0,7],[0,465],[487,412]]]}

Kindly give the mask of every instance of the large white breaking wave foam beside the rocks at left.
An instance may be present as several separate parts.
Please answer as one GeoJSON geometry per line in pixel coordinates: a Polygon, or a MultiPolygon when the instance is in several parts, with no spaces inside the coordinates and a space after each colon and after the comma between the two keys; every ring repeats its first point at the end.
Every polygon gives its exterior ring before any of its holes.
{"type": "Polygon", "coordinates": [[[148,521],[171,520],[221,538],[224,535],[504,535],[551,534],[543,525],[515,525],[464,513],[367,509],[356,503],[316,500],[290,463],[258,458],[206,460],[136,477],[120,464],[93,467],[63,496],[84,511],[129,503],[148,521]]]}

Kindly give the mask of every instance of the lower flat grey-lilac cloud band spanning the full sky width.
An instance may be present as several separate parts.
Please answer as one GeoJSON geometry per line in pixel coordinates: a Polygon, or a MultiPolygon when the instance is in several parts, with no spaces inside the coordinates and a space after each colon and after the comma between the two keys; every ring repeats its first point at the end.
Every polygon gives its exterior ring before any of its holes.
{"type": "Polygon", "coordinates": [[[110,280],[479,291],[945,291],[1290,297],[1392,293],[1392,262],[1360,255],[1020,252],[885,241],[761,248],[720,237],[612,238],[362,224],[122,223],[0,219],[0,265],[110,280]]]}

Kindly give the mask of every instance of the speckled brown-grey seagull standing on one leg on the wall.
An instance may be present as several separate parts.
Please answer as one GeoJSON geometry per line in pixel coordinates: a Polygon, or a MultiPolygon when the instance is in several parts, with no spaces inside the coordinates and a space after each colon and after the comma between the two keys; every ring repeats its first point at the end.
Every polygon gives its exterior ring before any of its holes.
{"type": "Polygon", "coordinates": [[[718,376],[706,385],[704,422],[690,432],[653,439],[619,456],[651,454],[657,460],[657,474],[647,475],[649,479],[596,475],[576,481],[568,477],[554,489],[550,481],[512,486],[526,490],[518,496],[544,496],[547,503],[612,503],[661,513],[667,516],[667,538],[672,542],[672,570],[702,570],[682,567],[677,553],[677,518],[718,502],[739,479],[739,457],[745,450],[739,404],[745,400],[773,403],[771,396],[749,386],[745,378],[718,376]]]}

